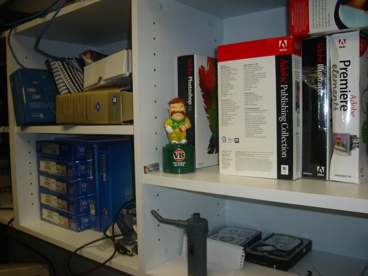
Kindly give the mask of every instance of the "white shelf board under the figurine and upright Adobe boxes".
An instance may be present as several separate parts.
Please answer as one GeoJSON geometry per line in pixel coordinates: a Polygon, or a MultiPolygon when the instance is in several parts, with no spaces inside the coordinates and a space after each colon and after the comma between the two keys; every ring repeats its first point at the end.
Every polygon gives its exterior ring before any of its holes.
{"type": "Polygon", "coordinates": [[[194,173],[143,174],[143,183],[181,190],[368,213],[368,182],[363,184],[301,178],[279,180],[219,173],[219,166],[194,173]]]}

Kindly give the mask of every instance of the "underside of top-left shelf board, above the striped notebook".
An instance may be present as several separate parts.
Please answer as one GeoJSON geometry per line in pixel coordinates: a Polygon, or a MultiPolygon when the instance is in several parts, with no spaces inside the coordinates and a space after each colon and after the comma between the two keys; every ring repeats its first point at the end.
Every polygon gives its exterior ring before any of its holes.
{"type": "MultiPolygon", "coordinates": [[[[60,10],[42,38],[89,46],[128,40],[130,10],[129,0],[78,1],[60,10]]],[[[53,14],[27,22],[13,33],[37,37],[53,14]]]]}

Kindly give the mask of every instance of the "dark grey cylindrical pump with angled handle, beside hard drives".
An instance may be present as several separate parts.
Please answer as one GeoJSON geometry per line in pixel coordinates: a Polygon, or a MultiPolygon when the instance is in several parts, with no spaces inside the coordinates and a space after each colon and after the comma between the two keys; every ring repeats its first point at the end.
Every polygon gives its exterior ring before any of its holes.
{"type": "Polygon", "coordinates": [[[208,221],[194,213],[187,220],[171,220],[161,217],[155,210],[151,214],[161,223],[184,228],[187,232],[188,276],[207,276],[208,221]]]}

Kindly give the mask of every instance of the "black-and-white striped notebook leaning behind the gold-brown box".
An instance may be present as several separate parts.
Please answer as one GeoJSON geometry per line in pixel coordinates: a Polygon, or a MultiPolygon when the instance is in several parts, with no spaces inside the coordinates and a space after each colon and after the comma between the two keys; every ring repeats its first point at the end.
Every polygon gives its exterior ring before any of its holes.
{"type": "MultiPolygon", "coordinates": [[[[66,58],[66,60],[83,71],[84,63],[82,59],[66,58]]],[[[83,74],[75,68],[56,59],[46,60],[45,63],[60,95],[83,91],[83,74]]]]}

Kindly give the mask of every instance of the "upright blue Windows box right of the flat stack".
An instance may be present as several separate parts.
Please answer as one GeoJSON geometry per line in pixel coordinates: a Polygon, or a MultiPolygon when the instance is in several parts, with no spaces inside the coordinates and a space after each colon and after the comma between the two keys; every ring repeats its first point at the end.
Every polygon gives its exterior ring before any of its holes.
{"type": "Polygon", "coordinates": [[[91,228],[104,231],[110,227],[124,203],[133,199],[133,148],[129,141],[104,143],[96,147],[96,212],[91,212],[91,228]]]}

